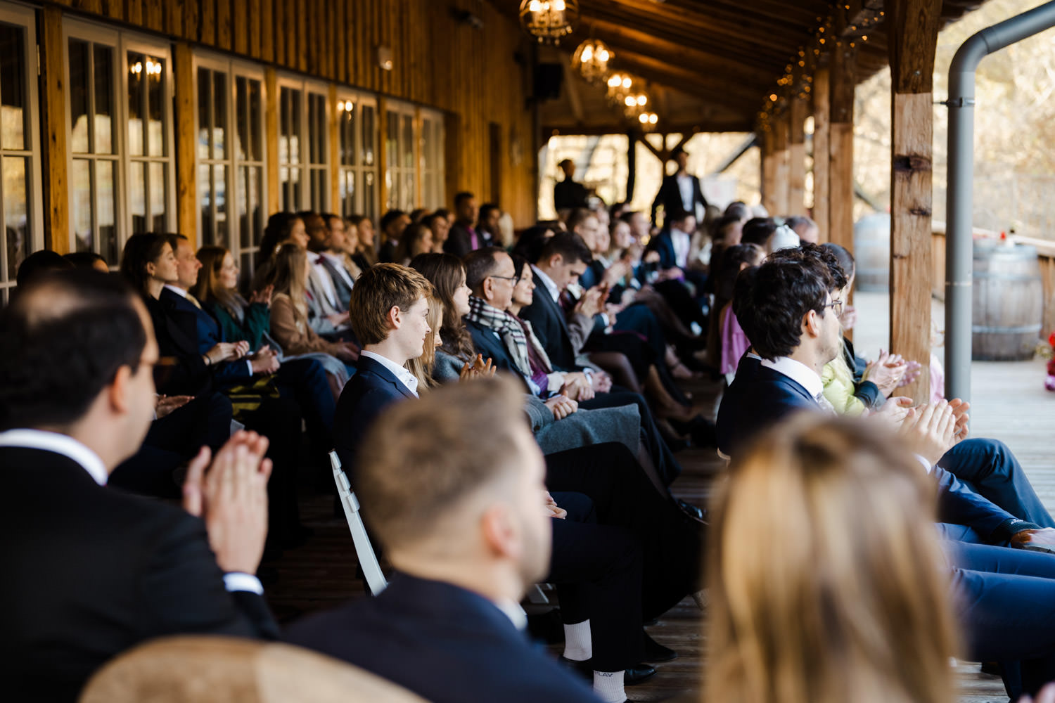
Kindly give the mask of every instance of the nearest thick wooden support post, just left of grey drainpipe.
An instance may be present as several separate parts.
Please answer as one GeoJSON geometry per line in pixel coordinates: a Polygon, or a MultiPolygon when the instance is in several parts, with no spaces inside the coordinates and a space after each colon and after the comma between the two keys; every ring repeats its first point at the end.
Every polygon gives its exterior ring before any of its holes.
{"type": "Polygon", "coordinates": [[[899,391],[929,395],[934,58],[941,0],[887,0],[890,52],[890,349],[922,364],[899,391]]]}

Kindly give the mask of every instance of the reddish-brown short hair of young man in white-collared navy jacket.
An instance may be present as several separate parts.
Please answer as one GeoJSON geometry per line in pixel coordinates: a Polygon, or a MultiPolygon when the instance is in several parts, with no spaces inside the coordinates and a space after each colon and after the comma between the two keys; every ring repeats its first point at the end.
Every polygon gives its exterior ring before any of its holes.
{"type": "Polygon", "coordinates": [[[433,294],[433,285],[414,269],[379,263],[356,279],[348,302],[351,329],[360,344],[381,344],[388,336],[388,311],[410,306],[433,294]]]}

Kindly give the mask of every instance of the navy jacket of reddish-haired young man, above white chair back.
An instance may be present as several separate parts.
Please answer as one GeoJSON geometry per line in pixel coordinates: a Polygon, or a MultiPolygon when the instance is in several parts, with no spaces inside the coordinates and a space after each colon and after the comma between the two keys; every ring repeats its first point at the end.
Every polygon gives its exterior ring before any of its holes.
{"type": "Polygon", "coordinates": [[[333,415],[333,444],[352,487],[356,453],[369,435],[370,425],[392,403],[415,397],[391,371],[368,356],[360,356],[356,369],[341,391],[333,415]]]}

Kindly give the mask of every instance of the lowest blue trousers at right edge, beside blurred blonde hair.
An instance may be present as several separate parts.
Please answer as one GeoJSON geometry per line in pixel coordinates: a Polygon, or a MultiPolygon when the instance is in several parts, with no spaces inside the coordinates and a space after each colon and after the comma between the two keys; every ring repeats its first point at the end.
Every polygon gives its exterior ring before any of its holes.
{"type": "Polygon", "coordinates": [[[1055,680],[1055,556],[944,542],[972,659],[998,661],[1011,699],[1055,680]]]}

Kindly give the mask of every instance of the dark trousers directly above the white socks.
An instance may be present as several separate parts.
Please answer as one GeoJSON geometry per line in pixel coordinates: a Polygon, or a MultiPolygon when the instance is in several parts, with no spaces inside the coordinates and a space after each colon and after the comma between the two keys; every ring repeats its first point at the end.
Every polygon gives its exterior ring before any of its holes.
{"type": "Polygon", "coordinates": [[[554,519],[548,581],[557,584],[568,625],[590,621],[595,671],[622,671],[641,660],[641,544],[630,530],[598,525],[581,493],[554,492],[568,510],[554,519]]]}

